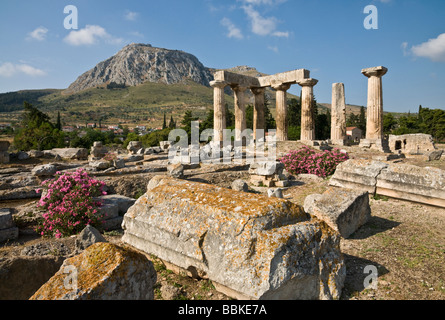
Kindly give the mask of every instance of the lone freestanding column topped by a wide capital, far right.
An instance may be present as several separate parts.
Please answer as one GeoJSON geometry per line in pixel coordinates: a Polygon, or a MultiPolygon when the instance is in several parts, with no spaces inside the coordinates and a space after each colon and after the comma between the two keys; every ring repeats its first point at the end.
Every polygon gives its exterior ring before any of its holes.
{"type": "Polygon", "coordinates": [[[383,91],[382,77],[388,72],[385,67],[363,69],[368,77],[368,110],[366,118],[366,139],[383,139],[383,91]]]}

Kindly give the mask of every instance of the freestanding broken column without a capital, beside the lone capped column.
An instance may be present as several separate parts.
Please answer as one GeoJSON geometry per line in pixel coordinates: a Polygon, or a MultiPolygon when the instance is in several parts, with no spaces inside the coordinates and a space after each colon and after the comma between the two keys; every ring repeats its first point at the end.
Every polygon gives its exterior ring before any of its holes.
{"type": "Polygon", "coordinates": [[[343,83],[332,84],[331,142],[343,145],[346,139],[346,98],[343,83]]]}

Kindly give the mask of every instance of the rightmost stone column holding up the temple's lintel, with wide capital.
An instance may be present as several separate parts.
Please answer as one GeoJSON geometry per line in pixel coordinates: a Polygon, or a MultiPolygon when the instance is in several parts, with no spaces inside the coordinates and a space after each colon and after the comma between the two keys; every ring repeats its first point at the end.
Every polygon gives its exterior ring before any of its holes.
{"type": "Polygon", "coordinates": [[[301,90],[301,137],[302,141],[315,140],[315,119],[314,119],[314,86],[318,83],[316,79],[304,79],[298,84],[301,90]]]}

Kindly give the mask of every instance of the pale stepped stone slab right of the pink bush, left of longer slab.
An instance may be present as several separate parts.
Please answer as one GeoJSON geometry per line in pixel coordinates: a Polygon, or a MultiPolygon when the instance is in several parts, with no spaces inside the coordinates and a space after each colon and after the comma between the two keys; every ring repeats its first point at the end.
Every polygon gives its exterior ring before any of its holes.
{"type": "Polygon", "coordinates": [[[375,194],[377,176],[386,167],[388,164],[380,161],[349,159],[337,166],[329,185],[375,194]]]}

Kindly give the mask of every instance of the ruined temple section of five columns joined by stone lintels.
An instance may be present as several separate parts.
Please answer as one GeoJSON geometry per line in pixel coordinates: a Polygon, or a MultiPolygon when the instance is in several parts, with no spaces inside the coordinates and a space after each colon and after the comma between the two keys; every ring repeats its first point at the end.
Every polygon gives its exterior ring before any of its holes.
{"type": "MultiPolygon", "coordinates": [[[[214,88],[214,141],[224,141],[224,129],[226,129],[224,88],[230,87],[234,92],[235,100],[235,140],[242,139],[241,134],[246,129],[246,99],[245,93],[250,90],[255,99],[253,138],[264,138],[264,91],[271,87],[276,91],[276,140],[287,140],[287,90],[293,84],[303,87],[303,105],[305,116],[302,116],[302,127],[306,128],[304,140],[314,140],[313,87],[318,80],[309,78],[309,71],[297,69],[264,77],[250,77],[228,71],[217,71],[214,81],[210,85],[214,88]],[[303,123],[304,121],[304,123],[303,123]]],[[[229,137],[227,137],[229,139],[229,137]]]]}

